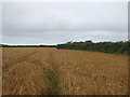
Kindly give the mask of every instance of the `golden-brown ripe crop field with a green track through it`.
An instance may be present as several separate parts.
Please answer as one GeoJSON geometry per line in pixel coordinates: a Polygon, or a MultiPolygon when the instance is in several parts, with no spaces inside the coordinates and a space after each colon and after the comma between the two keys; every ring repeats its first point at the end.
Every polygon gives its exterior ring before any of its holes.
{"type": "Polygon", "coordinates": [[[47,47],[2,48],[3,95],[126,95],[128,56],[47,47]]]}

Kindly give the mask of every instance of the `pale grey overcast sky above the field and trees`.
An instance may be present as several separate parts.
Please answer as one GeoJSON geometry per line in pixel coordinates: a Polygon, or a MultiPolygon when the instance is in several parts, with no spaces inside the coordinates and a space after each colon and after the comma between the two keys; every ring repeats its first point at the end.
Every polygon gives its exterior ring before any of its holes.
{"type": "Polygon", "coordinates": [[[87,40],[128,40],[128,3],[2,3],[3,43],[57,44],[87,40]]]}

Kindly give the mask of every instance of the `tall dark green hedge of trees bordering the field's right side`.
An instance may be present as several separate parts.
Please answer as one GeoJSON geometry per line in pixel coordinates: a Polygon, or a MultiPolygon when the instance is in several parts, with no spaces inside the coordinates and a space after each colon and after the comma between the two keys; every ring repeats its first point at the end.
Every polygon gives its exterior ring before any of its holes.
{"type": "Polygon", "coordinates": [[[64,44],[57,44],[56,48],[67,50],[84,50],[104,53],[117,53],[117,54],[130,54],[130,41],[118,41],[118,42],[98,42],[92,41],[86,42],[67,42],[64,44]]]}

